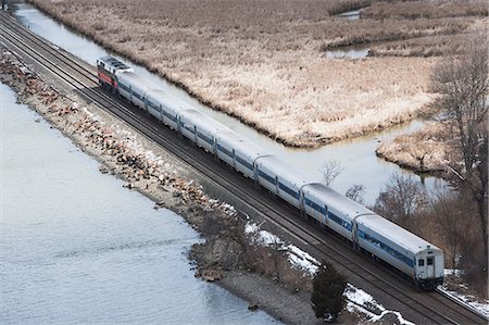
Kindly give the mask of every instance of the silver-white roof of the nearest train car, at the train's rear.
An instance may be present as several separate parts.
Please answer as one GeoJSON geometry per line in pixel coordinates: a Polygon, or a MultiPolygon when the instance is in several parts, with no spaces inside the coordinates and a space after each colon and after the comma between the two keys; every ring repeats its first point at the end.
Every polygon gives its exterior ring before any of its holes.
{"type": "Polygon", "coordinates": [[[401,226],[381,217],[378,214],[362,215],[356,220],[358,224],[371,229],[373,233],[377,233],[380,236],[400,245],[406,250],[417,253],[424,250],[441,251],[438,247],[429,243],[425,239],[408,232],[401,226]]]}

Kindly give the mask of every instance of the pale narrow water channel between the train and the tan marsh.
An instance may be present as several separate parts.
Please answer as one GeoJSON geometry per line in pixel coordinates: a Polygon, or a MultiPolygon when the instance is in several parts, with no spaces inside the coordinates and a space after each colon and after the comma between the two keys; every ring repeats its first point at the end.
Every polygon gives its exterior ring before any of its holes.
{"type": "MultiPolygon", "coordinates": [[[[100,55],[112,54],[93,41],[53,21],[30,4],[25,3],[23,0],[11,1],[11,4],[14,9],[14,15],[18,21],[25,26],[28,26],[34,33],[47,38],[51,42],[92,65],[96,64],[96,60],[100,55]]],[[[190,103],[197,110],[200,110],[229,126],[237,133],[267,149],[269,152],[281,157],[284,160],[296,165],[298,168],[305,171],[318,180],[322,179],[322,170],[327,161],[335,160],[340,162],[343,171],[333,184],[333,188],[344,193],[353,184],[362,184],[366,188],[365,201],[369,204],[375,202],[379,191],[394,173],[412,175],[422,182],[428,190],[444,185],[444,182],[437,177],[426,177],[422,179],[414,173],[404,171],[398,165],[388,163],[375,155],[375,149],[380,141],[388,141],[399,134],[413,132],[422,125],[421,123],[414,122],[387,132],[375,133],[363,138],[341,141],[314,150],[287,148],[268,137],[261,135],[252,127],[239,122],[237,118],[213,111],[199,103],[181,89],[170,85],[166,80],[148,72],[146,68],[123,58],[118,59],[133,66],[135,72],[145,79],[159,85],[162,89],[165,89],[170,93],[190,103]]]]}

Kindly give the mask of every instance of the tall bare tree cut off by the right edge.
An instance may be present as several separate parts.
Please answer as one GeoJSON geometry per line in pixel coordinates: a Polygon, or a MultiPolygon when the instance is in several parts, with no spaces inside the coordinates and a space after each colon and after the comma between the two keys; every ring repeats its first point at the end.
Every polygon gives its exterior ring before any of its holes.
{"type": "Polygon", "coordinates": [[[455,150],[463,164],[452,162],[454,185],[469,191],[481,222],[485,255],[488,255],[488,129],[489,102],[488,39],[480,34],[471,37],[462,55],[450,54],[436,67],[432,88],[438,92],[434,107],[440,117],[453,125],[455,150]]]}

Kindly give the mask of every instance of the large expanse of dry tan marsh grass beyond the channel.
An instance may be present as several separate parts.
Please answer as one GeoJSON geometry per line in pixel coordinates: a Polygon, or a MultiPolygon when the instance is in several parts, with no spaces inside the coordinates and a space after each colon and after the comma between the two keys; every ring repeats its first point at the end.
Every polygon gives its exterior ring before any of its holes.
{"type": "Polygon", "coordinates": [[[415,117],[430,70],[487,23],[485,1],[30,0],[216,110],[316,147],[415,117]],[[336,14],[363,8],[360,20],[336,14]],[[326,50],[361,45],[362,60],[326,50]]]}

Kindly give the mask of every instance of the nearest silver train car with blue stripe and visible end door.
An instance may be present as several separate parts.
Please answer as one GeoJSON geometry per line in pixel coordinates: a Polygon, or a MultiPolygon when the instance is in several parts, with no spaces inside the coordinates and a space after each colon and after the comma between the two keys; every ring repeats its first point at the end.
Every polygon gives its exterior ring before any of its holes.
{"type": "Polygon", "coordinates": [[[355,220],[360,248],[410,276],[416,286],[432,289],[443,283],[443,252],[436,246],[377,214],[355,220]]]}

